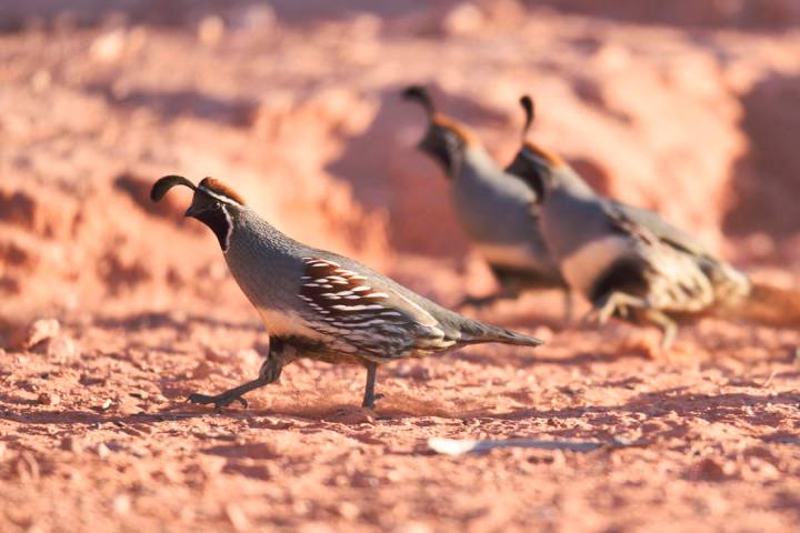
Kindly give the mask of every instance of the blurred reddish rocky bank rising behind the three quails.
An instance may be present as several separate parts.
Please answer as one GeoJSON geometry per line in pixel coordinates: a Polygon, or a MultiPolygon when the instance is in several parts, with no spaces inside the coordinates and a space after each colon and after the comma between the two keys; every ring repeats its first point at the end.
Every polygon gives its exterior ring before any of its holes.
{"type": "MultiPolygon", "coordinates": [[[[739,264],[800,263],[793,0],[0,4],[0,313],[236,295],[166,173],[454,301],[490,283],[414,150],[429,84],[507,162],[533,135],[739,264]],[[378,6],[378,7],[377,7],[378,6]],[[443,265],[446,274],[419,265],[443,265]],[[432,281],[433,280],[433,281],[432,281]]],[[[779,275],[779,274],[777,274],[779,275]]]]}

